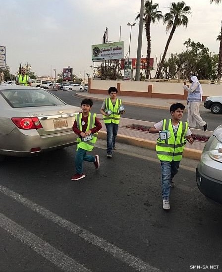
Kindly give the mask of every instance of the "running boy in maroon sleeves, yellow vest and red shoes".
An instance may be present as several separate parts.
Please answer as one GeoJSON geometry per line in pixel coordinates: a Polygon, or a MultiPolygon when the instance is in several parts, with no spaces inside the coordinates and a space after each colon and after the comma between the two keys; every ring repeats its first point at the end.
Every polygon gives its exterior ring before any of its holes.
{"type": "Polygon", "coordinates": [[[81,102],[82,113],[77,114],[72,129],[77,138],[77,150],[75,154],[76,173],[71,180],[79,180],[85,177],[83,173],[83,161],[94,163],[96,169],[100,167],[99,155],[88,155],[87,151],[92,151],[97,140],[97,132],[102,128],[96,113],[91,113],[93,101],[84,99],[81,102]]]}

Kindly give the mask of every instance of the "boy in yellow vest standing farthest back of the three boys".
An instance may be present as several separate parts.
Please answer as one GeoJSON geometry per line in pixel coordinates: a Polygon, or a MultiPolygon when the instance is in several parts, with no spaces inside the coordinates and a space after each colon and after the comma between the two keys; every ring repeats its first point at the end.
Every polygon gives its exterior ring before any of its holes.
{"type": "Polygon", "coordinates": [[[120,114],[125,112],[121,99],[116,98],[118,90],[110,87],[109,98],[106,98],[100,109],[107,128],[107,158],[112,158],[112,150],[115,149],[115,140],[119,128],[120,114]]]}

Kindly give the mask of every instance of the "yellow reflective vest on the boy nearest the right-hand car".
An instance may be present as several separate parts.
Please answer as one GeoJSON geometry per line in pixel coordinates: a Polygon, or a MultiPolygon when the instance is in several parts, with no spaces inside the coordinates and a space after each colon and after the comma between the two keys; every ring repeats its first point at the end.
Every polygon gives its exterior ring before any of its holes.
{"type": "Polygon", "coordinates": [[[170,131],[170,138],[166,140],[157,139],[156,151],[158,159],[167,162],[181,161],[188,123],[180,121],[175,136],[171,119],[164,119],[163,130],[165,129],[170,131]]]}

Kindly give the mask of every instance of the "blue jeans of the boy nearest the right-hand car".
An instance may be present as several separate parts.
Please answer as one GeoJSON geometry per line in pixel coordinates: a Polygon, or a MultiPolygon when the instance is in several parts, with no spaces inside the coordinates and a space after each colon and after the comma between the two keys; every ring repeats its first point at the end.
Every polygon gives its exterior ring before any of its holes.
{"type": "Polygon", "coordinates": [[[161,161],[162,167],[162,197],[164,200],[169,200],[170,193],[170,178],[174,177],[174,175],[179,170],[179,162],[166,162],[161,161]]]}

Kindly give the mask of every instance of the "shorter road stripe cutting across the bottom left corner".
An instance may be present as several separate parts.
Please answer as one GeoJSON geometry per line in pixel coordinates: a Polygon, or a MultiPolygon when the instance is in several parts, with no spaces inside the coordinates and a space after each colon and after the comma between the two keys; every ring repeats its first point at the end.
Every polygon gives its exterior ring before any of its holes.
{"type": "Polygon", "coordinates": [[[90,272],[84,266],[0,213],[0,227],[66,272],[90,272]]]}

